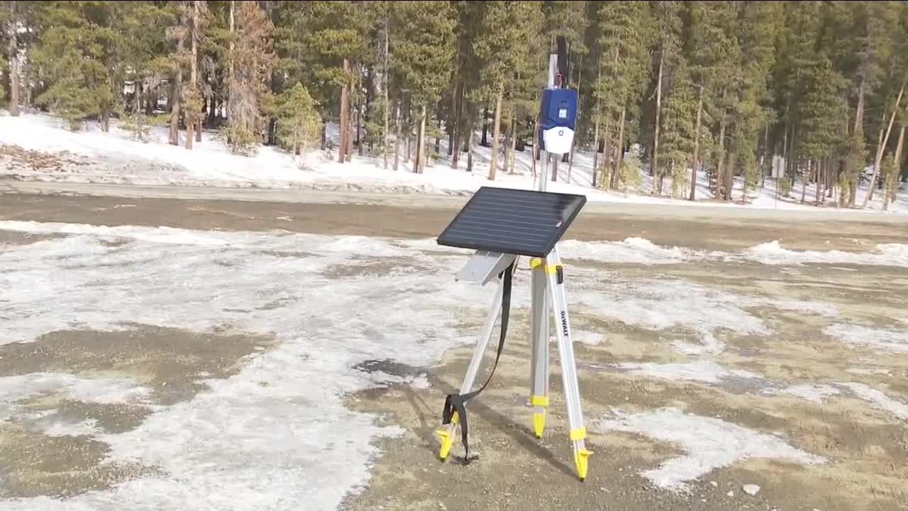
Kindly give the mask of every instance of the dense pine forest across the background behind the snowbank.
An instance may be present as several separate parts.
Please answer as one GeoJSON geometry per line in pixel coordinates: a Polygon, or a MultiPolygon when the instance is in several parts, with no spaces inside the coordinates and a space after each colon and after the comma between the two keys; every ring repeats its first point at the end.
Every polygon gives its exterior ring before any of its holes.
{"type": "Polygon", "coordinates": [[[10,115],[169,126],[187,150],[216,131],[240,155],[421,173],[442,152],[470,171],[482,145],[495,179],[538,150],[562,35],[579,116],[553,165],[591,154],[594,186],[639,173],[693,199],[706,175],[733,201],[773,176],[804,203],[885,208],[906,175],[906,2],[5,1],[0,26],[10,115]]]}

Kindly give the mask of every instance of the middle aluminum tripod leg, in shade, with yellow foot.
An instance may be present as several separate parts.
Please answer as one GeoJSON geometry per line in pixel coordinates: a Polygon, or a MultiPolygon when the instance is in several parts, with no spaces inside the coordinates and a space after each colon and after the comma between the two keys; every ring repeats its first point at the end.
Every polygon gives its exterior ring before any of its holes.
{"type": "Polygon", "coordinates": [[[546,408],[548,407],[548,281],[546,266],[542,259],[530,260],[532,267],[532,366],[530,376],[529,404],[533,406],[533,430],[537,438],[542,438],[546,428],[546,408]]]}

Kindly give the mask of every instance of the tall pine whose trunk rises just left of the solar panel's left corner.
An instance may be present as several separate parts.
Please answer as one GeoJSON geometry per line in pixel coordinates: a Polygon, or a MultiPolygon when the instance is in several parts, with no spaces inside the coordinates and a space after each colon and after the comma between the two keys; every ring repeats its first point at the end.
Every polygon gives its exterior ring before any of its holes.
{"type": "Polygon", "coordinates": [[[395,2],[391,5],[392,65],[400,91],[419,112],[417,153],[413,171],[426,165],[426,120],[452,74],[456,12],[449,2],[395,2]]]}

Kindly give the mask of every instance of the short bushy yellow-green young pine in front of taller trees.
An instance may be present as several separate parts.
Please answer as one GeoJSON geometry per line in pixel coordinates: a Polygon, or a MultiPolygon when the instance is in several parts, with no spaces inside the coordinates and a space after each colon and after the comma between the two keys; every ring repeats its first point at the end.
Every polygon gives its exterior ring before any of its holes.
{"type": "Polygon", "coordinates": [[[299,155],[302,168],[306,149],[318,142],[321,133],[321,116],[318,104],[301,83],[297,82],[277,98],[278,138],[284,148],[299,155]]]}

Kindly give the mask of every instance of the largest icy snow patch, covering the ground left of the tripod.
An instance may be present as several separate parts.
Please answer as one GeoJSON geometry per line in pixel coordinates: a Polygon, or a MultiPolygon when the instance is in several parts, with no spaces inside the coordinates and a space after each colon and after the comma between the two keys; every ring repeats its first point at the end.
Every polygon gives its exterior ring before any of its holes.
{"type": "MultiPolygon", "coordinates": [[[[426,255],[381,238],[28,222],[0,229],[65,235],[0,252],[0,342],[126,323],[226,325],[279,339],[236,375],[206,380],[210,389],[191,400],[153,407],[132,431],[94,435],[110,446],[108,462],[156,466],[164,476],[5,509],[333,511],[368,482],[376,440],[402,433],[343,406],[374,385],[353,368],[386,360],[429,366],[475,342],[459,331],[463,317],[479,324],[492,294],[489,286],[453,283],[463,261],[439,256],[444,249],[426,255]],[[395,278],[362,271],[381,255],[406,271],[395,278]]],[[[528,296],[514,296],[513,306],[527,307],[528,296]]],[[[403,383],[429,384],[424,376],[403,383]]],[[[110,379],[9,376],[0,378],[0,420],[25,414],[15,407],[23,397],[61,392],[104,403],[145,397],[141,387],[110,379]]],[[[88,425],[47,426],[88,432],[88,425]]]]}

